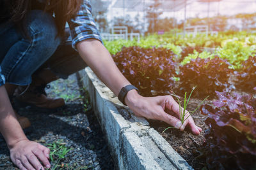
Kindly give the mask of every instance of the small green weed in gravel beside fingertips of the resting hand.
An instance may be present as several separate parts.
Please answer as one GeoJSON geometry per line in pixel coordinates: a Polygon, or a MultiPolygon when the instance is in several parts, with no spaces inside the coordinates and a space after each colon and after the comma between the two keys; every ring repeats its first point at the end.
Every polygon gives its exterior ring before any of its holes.
{"type": "Polygon", "coordinates": [[[65,143],[61,143],[61,141],[56,141],[54,143],[51,143],[48,145],[49,149],[51,150],[50,153],[50,159],[52,163],[51,170],[55,169],[61,169],[60,161],[65,159],[65,156],[67,155],[70,150],[73,150],[74,148],[68,149],[65,146],[65,143]]]}

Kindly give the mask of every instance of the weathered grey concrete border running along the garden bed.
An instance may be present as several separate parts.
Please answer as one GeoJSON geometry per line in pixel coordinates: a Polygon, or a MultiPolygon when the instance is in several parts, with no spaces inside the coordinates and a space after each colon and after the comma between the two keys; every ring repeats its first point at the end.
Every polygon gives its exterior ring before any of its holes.
{"type": "Polygon", "coordinates": [[[120,103],[92,69],[86,67],[79,75],[119,169],[192,169],[147,120],[120,103]]]}

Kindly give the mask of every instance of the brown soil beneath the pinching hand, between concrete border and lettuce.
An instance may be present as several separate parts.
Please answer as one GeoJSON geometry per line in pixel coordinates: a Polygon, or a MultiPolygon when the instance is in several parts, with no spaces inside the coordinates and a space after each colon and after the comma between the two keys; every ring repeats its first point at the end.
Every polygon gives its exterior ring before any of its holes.
{"type": "MultiPolygon", "coordinates": [[[[191,99],[188,104],[188,111],[195,110],[200,103],[201,100],[191,99]]],[[[198,136],[193,135],[188,127],[186,127],[184,132],[173,128],[164,131],[164,129],[170,127],[170,125],[154,120],[149,120],[149,122],[190,166],[194,169],[202,169],[205,167],[205,159],[200,157],[200,148],[202,148],[205,141],[204,131],[207,130],[208,127],[204,123],[206,117],[200,113],[200,110],[195,111],[192,117],[195,120],[195,124],[202,128],[202,132],[198,136]]]]}

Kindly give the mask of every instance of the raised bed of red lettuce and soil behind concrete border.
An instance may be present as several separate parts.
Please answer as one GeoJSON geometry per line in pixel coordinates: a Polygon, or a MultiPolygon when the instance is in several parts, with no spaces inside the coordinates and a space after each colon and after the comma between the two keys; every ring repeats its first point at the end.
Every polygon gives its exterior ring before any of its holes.
{"type": "MultiPolygon", "coordinates": [[[[200,111],[193,114],[196,124],[204,130],[200,136],[176,129],[163,133],[193,168],[253,169],[256,167],[253,162],[256,159],[256,101],[255,96],[246,92],[255,93],[256,64],[254,56],[243,56],[243,50],[246,51],[241,47],[237,58],[228,58],[228,52],[222,51],[223,59],[208,53],[194,53],[179,64],[170,50],[132,46],[123,48],[113,58],[143,96],[173,92],[184,96],[197,86],[193,94],[196,99],[191,100],[188,110],[194,110],[209,96],[209,105],[201,108],[204,115],[200,111]]],[[[168,127],[162,122],[150,121],[150,124],[160,133],[168,127]]]]}

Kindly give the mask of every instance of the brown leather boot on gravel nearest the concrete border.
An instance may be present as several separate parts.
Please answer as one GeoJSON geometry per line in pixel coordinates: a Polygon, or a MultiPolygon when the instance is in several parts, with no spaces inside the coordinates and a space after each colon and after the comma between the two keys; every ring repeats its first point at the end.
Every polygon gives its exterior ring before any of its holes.
{"type": "Polygon", "coordinates": [[[22,103],[47,109],[55,109],[65,105],[65,101],[62,98],[52,99],[47,97],[44,91],[44,86],[29,87],[25,92],[24,90],[26,90],[25,87],[18,87],[15,90],[16,99],[22,103]],[[41,91],[38,90],[40,88],[41,91]]]}

